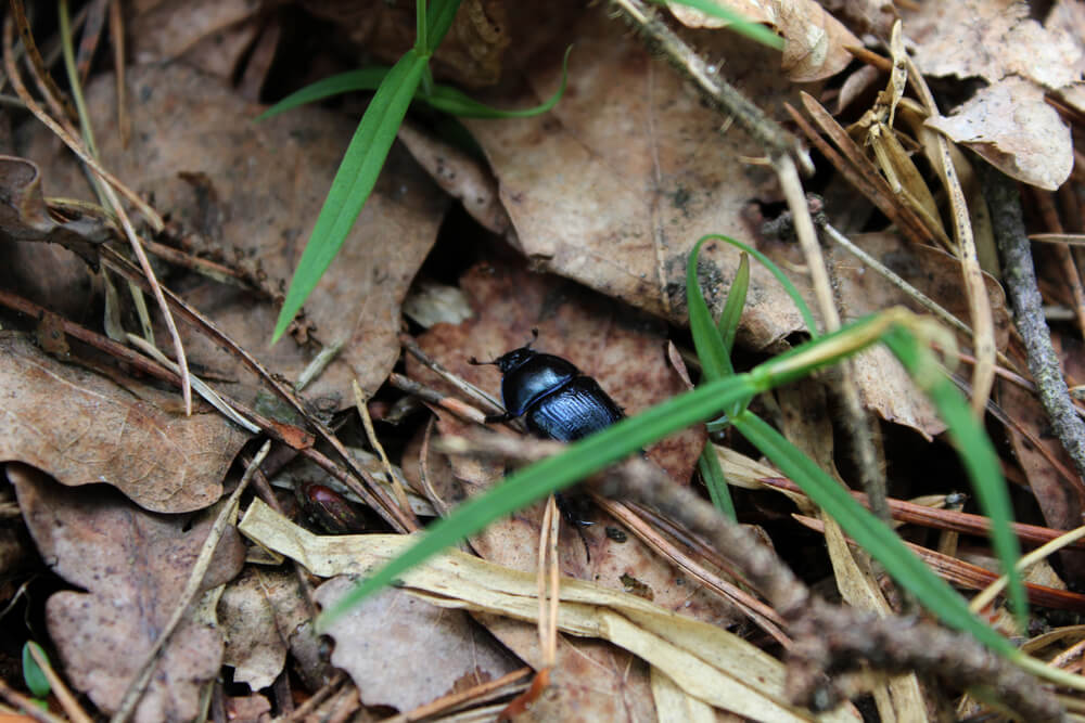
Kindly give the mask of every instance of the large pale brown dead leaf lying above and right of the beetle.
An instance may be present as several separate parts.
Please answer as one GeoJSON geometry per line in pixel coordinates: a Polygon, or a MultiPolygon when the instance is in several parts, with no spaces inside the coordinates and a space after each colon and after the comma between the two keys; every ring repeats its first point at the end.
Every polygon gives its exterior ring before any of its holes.
{"type": "MultiPolygon", "coordinates": [[[[467,121],[500,182],[520,248],[538,269],[684,324],[690,248],[710,232],[749,238],[743,209],[775,193],[766,191],[775,188],[771,171],[744,164],[760,147],[733,127],[720,135],[718,113],[602,9],[582,14],[560,37],[525,65],[529,89],[500,99],[525,107],[553,93],[564,41],[575,37],[569,89],[553,111],[467,121]]],[[[763,47],[720,34],[702,51],[726,57],[722,73],[756,89],[769,113],[792,92],[763,47]]],[[[733,279],[739,254],[730,247],[702,258],[719,280],[733,279]]],[[[742,343],[764,348],[802,320],[761,264],[751,272],[742,343]]]]}

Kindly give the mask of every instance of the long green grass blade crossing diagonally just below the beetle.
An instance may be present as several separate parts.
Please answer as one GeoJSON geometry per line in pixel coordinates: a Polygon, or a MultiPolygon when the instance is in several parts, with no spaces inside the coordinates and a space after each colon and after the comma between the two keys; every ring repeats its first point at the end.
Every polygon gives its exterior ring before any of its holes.
{"type": "Polygon", "coordinates": [[[319,624],[327,625],[406,570],[478,532],[494,520],[584,479],[649,442],[703,422],[717,414],[723,406],[750,393],[746,375],[712,382],[575,442],[563,454],[513,473],[498,487],[469,500],[454,514],[435,522],[412,547],[363,580],[321,615],[319,624]]]}

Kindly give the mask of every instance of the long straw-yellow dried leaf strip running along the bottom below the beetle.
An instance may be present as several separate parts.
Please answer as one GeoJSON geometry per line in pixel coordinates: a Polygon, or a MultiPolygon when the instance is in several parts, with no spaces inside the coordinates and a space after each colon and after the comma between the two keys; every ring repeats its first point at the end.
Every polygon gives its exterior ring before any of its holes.
{"type": "MultiPolygon", "coordinates": [[[[239,529],[321,577],[365,574],[413,542],[408,537],[383,534],[321,538],[294,526],[259,500],[250,505],[239,529]]],[[[534,621],[538,615],[534,573],[502,568],[458,551],[411,569],[403,576],[403,583],[436,605],[524,621],[534,621]]],[[[813,718],[788,702],[782,663],[737,635],[636,595],[582,580],[562,580],[560,598],[558,627],[562,632],[611,641],[660,668],[702,701],[754,720],[813,718]]],[[[614,713],[618,720],[627,719],[621,709],[614,713]]],[[[844,706],[819,720],[859,718],[844,706]]]]}

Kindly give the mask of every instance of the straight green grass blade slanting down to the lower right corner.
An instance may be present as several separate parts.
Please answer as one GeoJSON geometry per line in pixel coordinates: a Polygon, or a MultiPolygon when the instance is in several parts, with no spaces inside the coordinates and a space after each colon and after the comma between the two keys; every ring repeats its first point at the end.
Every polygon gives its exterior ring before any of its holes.
{"type": "Polygon", "coordinates": [[[810,500],[832,516],[871,557],[877,559],[903,588],[911,591],[929,610],[946,624],[968,632],[993,650],[1011,655],[1017,648],[976,618],[965,599],[945,580],[934,574],[893,530],[855,501],[813,460],[767,423],[745,413],[733,421],[735,428],[790,477],[810,500]]]}

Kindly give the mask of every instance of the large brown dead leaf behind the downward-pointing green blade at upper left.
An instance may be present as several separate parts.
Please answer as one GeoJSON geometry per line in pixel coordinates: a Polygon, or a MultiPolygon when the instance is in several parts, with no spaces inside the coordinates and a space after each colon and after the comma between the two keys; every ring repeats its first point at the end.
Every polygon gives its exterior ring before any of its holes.
{"type": "MultiPolygon", "coordinates": [[[[225,257],[267,288],[281,293],[308,238],[354,122],[307,106],[265,122],[263,109],[238,99],[213,77],[179,64],[129,70],[131,117],[137,132],[127,151],[115,134],[101,140],[103,163],[194,232],[199,253],[225,257]]],[[[111,122],[114,79],[100,77],[87,91],[90,114],[111,122]]],[[[56,156],[53,141],[36,134],[30,157],[49,159],[50,179],[66,195],[87,194],[81,171],[56,156]]],[[[399,304],[436,237],[447,197],[401,150],[394,149],[354,230],[305,305],[324,344],[345,340],[336,361],[306,388],[349,403],[349,382],[375,390],[399,357],[399,304]]],[[[318,349],[268,339],[278,306],[215,282],[190,282],[186,298],[270,370],[296,378],[318,349]]],[[[187,326],[181,327],[194,369],[239,380],[222,385],[245,402],[257,387],[235,360],[187,326]]]]}

